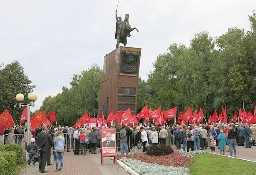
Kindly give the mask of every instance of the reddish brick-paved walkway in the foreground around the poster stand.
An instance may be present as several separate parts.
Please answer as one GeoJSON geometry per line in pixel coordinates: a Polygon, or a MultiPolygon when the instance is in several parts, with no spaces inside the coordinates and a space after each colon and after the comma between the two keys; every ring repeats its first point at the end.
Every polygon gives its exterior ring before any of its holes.
{"type": "MultiPolygon", "coordinates": [[[[90,175],[129,175],[118,164],[113,164],[113,160],[110,158],[104,158],[104,166],[101,165],[101,154],[97,150],[97,154],[87,155],[74,155],[73,152],[64,152],[64,165],[63,170],[55,172],[55,161],[53,161],[53,155],[51,155],[51,166],[46,166],[45,170],[48,173],[39,172],[39,164],[35,166],[28,166],[21,172],[21,175],[77,175],[77,174],[90,174],[90,175]]],[[[60,161],[59,161],[60,167],[60,161]]]]}

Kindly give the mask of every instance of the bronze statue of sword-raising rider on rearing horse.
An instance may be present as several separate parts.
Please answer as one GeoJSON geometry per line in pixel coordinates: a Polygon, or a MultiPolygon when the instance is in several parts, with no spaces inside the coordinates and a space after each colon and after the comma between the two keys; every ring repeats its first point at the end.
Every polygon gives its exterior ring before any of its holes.
{"type": "Polygon", "coordinates": [[[116,48],[119,47],[120,42],[123,43],[124,46],[126,45],[127,43],[126,38],[131,36],[130,32],[133,31],[134,29],[136,29],[137,32],[139,32],[139,30],[136,27],[131,28],[131,25],[129,24],[129,14],[125,14],[124,21],[122,21],[121,17],[117,17],[117,14],[116,14],[116,36],[115,36],[115,39],[117,41],[116,48]]]}

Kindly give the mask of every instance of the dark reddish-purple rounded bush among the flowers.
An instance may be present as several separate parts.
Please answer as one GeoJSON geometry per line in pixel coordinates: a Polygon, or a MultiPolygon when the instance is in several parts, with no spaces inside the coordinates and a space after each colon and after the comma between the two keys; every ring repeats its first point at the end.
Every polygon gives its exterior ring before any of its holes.
{"type": "Polygon", "coordinates": [[[157,145],[149,147],[146,153],[150,156],[169,155],[173,153],[172,147],[168,145],[157,145]]]}

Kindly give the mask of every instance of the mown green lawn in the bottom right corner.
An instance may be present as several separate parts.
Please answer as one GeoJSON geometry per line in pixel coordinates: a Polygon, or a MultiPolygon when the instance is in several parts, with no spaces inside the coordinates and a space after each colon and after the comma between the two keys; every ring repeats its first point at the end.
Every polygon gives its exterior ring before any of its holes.
{"type": "Polygon", "coordinates": [[[256,175],[256,163],[215,155],[208,152],[196,155],[189,167],[191,175],[256,175]]]}

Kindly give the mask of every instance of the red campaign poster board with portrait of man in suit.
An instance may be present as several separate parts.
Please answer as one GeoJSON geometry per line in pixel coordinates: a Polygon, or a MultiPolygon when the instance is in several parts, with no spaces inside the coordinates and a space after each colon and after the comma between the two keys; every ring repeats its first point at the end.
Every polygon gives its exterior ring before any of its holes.
{"type": "Polygon", "coordinates": [[[116,156],[116,128],[102,128],[102,156],[116,156]]]}

